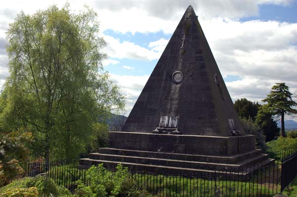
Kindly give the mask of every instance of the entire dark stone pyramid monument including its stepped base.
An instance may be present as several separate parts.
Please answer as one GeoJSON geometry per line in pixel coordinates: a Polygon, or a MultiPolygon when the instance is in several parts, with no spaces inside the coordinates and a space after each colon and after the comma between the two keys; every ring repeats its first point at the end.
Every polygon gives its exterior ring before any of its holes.
{"type": "Polygon", "coordinates": [[[80,164],[156,173],[235,170],[272,162],[247,135],[190,5],[109,148],[80,164]]]}

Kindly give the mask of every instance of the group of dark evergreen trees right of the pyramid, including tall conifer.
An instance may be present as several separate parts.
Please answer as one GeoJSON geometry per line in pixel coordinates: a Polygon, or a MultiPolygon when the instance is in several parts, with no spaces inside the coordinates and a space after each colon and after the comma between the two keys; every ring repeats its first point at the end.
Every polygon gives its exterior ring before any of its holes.
{"type": "MultiPolygon", "coordinates": [[[[258,102],[252,102],[246,98],[241,98],[235,101],[234,107],[241,117],[246,129],[253,125],[254,133],[258,137],[258,143],[264,143],[261,140],[263,137],[266,142],[277,139],[280,135],[280,128],[277,126],[277,121],[281,121],[281,136],[286,137],[285,132],[285,115],[292,116],[297,114],[295,107],[296,101],[292,99],[293,94],[289,91],[289,86],[285,83],[276,83],[272,86],[270,94],[262,101],[265,104],[261,105],[258,102]],[[262,136],[262,137],[261,137],[262,136]]],[[[265,145],[259,146],[263,148],[265,145]]]]}

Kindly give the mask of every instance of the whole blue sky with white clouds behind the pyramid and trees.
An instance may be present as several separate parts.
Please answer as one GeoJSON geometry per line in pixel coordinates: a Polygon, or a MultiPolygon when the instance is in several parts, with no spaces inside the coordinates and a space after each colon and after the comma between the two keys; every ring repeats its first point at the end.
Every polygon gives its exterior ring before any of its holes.
{"type": "MultiPolygon", "coordinates": [[[[0,7],[0,86],[9,75],[5,31],[16,14],[65,0],[9,0],[0,7]]],[[[122,93],[126,115],[188,5],[192,5],[235,101],[261,101],[276,82],[297,93],[297,0],[68,0],[98,13],[109,56],[103,62],[122,93]]]]}

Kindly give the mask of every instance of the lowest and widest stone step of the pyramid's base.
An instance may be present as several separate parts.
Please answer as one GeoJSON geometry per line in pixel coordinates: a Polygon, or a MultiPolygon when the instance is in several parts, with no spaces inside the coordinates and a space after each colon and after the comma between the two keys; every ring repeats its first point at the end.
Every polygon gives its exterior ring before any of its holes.
{"type": "MultiPolygon", "coordinates": [[[[273,159],[267,159],[262,163],[259,163],[257,167],[268,165],[273,162],[273,159]]],[[[133,172],[145,172],[153,174],[170,174],[170,175],[195,175],[195,174],[206,174],[206,173],[215,173],[216,175],[227,176],[227,178],[235,180],[248,179],[250,176],[251,170],[242,170],[237,172],[232,171],[215,171],[207,169],[193,169],[193,168],[183,168],[183,167],[172,167],[172,166],[163,166],[163,165],[151,165],[151,164],[140,164],[140,163],[131,163],[131,162],[121,162],[121,161],[108,161],[108,160],[98,160],[91,158],[81,158],[80,165],[91,166],[103,163],[103,166],[109,170],[114,170],[118,164],[122,164],[125,167],[128,167],[130,171],[133,172]]]]}

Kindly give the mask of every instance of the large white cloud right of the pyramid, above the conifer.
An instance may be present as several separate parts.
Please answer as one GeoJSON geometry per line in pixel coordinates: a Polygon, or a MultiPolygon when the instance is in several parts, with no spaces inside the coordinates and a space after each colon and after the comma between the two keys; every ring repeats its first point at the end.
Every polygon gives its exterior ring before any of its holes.
{"type": "Polygon", "coordinates": [[[216,18],[201,26],[223,75],[296,80],[297,24],[216,18]]]}

